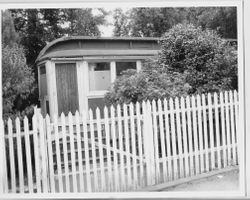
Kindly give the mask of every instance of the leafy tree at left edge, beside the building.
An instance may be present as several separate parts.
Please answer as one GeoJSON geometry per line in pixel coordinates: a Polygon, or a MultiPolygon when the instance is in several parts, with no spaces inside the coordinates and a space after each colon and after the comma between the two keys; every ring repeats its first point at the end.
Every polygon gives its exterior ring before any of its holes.
{"type": "Polygon", "coordinates": [[[30,106],[22,108],[21,105],[33,91],[34,77],[26,64],[24,50],[18,44],[18,34],[8,11],[3,12],[2,37],[3,117],[6,119],[30,113],[30,106]]]}

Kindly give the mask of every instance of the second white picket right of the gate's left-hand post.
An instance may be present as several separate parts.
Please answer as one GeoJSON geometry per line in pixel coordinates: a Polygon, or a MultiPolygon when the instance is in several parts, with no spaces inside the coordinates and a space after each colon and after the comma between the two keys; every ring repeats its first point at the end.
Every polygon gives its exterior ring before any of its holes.
{"type": "Polygon", "coordinates": [[[61,162],[61,150],[60,150],[60,140],[58,133],[58,117],[55,114],[53,116],[54,130],[55,130],[55,147],[56,147],[56,166],[57,166],[57,177],[58,177],[58,190],[59,192],[64,192],[63,180],[62,180],[62,162],[61,162]]]}

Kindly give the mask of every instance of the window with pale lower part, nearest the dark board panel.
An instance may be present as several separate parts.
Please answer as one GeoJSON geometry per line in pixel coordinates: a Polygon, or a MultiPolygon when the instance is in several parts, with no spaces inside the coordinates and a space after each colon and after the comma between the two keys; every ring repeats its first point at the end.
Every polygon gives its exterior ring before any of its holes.
{"type": "Polygon", "coordinates": [[[110,84],[110,63],[89,63],[89,90],[107,90],[110,84]]]}

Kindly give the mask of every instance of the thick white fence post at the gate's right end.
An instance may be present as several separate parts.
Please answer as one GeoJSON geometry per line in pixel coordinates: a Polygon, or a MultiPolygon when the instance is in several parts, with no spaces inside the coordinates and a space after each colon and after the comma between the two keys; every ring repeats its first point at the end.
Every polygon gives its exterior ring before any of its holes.
{"type": "Polygon", "coordinates": [[[154,137],[151,116],[151,105],[143,102],[143,139],[146,159],[147,184],[155,184],[154,137]]]}

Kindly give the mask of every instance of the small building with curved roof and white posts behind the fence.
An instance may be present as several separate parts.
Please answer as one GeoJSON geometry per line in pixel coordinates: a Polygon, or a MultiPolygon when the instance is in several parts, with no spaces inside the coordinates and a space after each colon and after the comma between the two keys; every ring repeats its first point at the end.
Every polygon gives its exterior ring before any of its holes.
{"type": "Polygon", "coordinates": [[[42,114],[102,109],[121,72],[139,71],[158,50],[158,38],[72,36],[50,42],[36,60],[42,114]]]}

